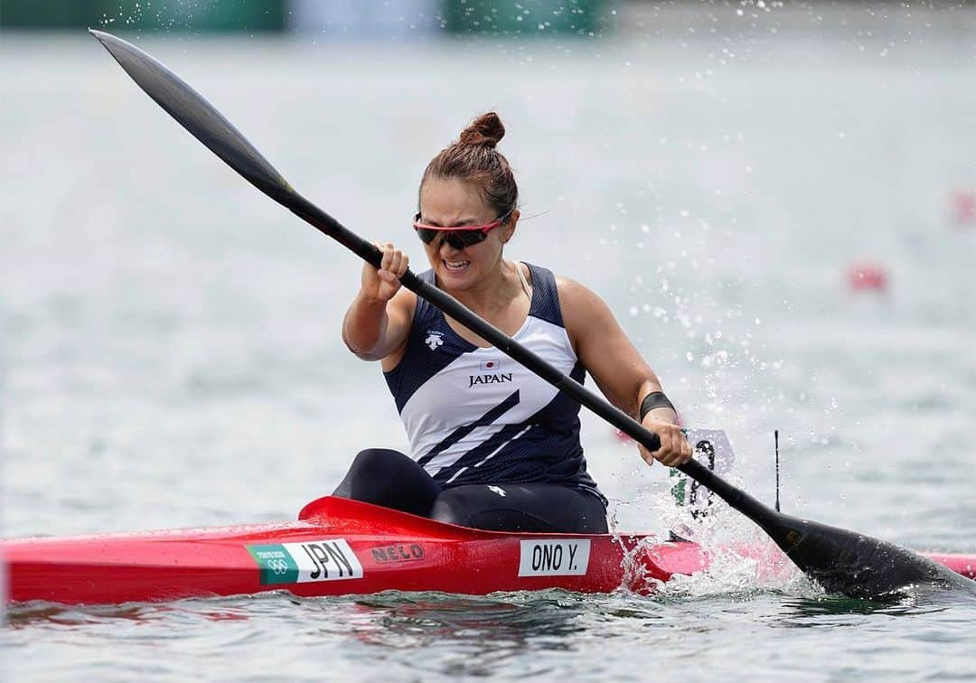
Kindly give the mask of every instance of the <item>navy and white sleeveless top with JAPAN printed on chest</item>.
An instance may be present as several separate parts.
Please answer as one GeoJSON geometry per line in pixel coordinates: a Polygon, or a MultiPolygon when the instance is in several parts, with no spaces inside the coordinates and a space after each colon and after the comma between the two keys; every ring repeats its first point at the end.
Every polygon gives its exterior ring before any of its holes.
{"type": "MultiPolygon", "coordinates": [[[[532,303],[513,338],[583,382],[555,277],[526,265],[532,303]]],[[[434,282],[432,270],[420,277],[434,282]]],[[[549,482],[602,498],[580,445],[580,404],[494,346],[463,339],[429,302],[418,298],[403,358],[385,377],[411,457],[441,486],[549,482]]]]}

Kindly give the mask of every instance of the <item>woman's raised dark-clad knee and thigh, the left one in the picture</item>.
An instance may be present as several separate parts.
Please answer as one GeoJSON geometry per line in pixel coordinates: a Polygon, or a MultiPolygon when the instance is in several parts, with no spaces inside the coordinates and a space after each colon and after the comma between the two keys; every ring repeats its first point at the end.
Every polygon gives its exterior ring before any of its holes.
{"type": "Polygon", "coordinates": [[[370,448],[359,452],[332,495],[427,517],[440,493],[417,462],[399,451],[370,448]]]}

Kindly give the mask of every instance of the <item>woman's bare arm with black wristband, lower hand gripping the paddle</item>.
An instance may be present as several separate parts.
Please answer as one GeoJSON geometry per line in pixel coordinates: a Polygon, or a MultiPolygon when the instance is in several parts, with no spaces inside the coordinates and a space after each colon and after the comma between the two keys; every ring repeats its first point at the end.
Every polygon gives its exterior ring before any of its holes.
{"type": "MultiPolygon", "coordinates": [[[[607,400],[639,420],[644,397],[664,390],[658,376],[633,347],[603,300],[573,280],[557,278],[556,282],[566,332],[576,355],[607,400]]],[[[674,466],[691,458],[691,447],[671,408],[655,408],[640,422],[661,438],[661,448],[654,453],[638,445],[648,464],[659,460],[674,466]]]]}

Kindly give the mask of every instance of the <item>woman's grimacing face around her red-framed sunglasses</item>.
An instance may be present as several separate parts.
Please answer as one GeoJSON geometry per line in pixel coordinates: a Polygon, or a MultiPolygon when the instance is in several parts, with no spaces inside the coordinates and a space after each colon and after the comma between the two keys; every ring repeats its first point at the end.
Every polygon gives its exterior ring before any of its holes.
{"type": "MultiPolygon", "coordinates": [[[[421,188],[420,222],[431,227],[490,225],[498,220],[497,213],[469,182],[432,178],[421,188]]],[[[427,260],[441,284],[447,289],[467,289],[498,266],[502,261],[502,247],[514,232],[517,218],[513,215],[489,229],[484,241],[477,244],[448,240],[443,233],[425,244],[427,260]]]]}

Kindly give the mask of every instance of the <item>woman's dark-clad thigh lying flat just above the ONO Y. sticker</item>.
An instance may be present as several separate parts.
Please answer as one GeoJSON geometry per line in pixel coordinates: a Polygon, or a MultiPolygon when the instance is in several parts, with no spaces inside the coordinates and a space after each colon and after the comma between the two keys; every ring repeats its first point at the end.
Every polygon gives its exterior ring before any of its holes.
{"type": "Polygon", "coordinates": [[[603,502],[561,484],[469,484],[447,489],[433,519],[486,531],[605,534],[603,502]]]}

